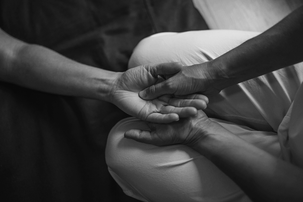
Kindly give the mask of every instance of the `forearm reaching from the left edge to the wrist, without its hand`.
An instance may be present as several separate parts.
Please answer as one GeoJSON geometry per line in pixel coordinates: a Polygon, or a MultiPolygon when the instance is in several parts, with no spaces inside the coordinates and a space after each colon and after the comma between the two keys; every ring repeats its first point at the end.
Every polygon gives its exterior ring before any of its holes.
{"type": "Polygon", "coordinates": [[[2,51],[2,81],[54,94],[110,101],[113,81],[121,73],[80,64],[39,45],[8,40],[10,43],[2,49],[16,48],[6,56],[2,51]]]}

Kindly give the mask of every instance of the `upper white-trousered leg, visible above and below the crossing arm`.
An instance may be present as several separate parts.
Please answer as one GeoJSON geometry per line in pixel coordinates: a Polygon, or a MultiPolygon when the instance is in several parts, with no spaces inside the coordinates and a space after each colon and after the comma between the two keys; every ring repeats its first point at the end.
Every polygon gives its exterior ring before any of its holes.
{"type": "MultiPolygon", "coordinates": [[[[235,30],[159,33],[137,45],[128,66],[169,61],[198,64],[212,60],[258,34],[235,30]]],[[[224,89],[209,98],[205,112],[210,117],[256,130],[277,131],[302,81],[302,64],[292,65],[224,89]]]]}

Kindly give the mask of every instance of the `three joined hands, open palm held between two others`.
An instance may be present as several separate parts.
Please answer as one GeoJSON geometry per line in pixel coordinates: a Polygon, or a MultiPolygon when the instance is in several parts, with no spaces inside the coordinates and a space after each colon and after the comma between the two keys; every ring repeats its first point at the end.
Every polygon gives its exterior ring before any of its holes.
{"type": "Polygon", "coordinates": [[[203,133],[198,126],[211,124],[201,111],[206,108],[208,98],[193,93],[220,92],[210,84],[205,69],[201,64],[182,67],[181,63],[172,62],[146,64],[121,73],[113,86],[112,102],[126,113],[147,121],[151,128],[151,131],[132,129],[125,132],[125,137],[159,146],[193,144],[203,133]]]}

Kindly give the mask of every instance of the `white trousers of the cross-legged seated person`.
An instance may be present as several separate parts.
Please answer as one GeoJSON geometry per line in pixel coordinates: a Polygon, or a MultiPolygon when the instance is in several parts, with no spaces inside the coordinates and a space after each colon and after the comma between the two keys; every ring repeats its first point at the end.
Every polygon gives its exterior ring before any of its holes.
{"type": "MultiPolygon", "coordinates": [[[[183,65],[202,63],[257,34],[210,30],[152,35],[135,48],[129,68],[168,61],[181,61],[183,65]]],[[[303,80],[300,65],[223,90],[209,99],[207,114],[224,119],[213,120],[277,157],[280,154],[278,135],[270,131],[277,131],[283,120],[285,127],[279,128],[279,137],[284,145],[282,152],[286,151],[283,157],[288,156],[288,120],[284,117],[303,80]],[[281,133],[280,129],[285,132],[281,133]]],[[[108,170],[125,194],[142,201],[250,201],[232,180],[191,148],[185,145],[156,147],[124,138],[124,132],[133,128],[148,129],[143,121],[135,118],[120,121],[110,132],[105,151],[108,170]]]]}

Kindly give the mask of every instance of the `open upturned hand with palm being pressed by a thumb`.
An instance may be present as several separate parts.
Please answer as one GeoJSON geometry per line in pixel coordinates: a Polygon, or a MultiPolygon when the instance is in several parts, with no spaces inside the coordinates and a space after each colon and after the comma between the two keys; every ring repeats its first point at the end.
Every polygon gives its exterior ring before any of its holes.
{"type": "Polygon", "coordinates": [[[173,75],[181,70],[181,63],[146,64],[129,69],[115,81],[112,91],[112,103],[126,113],[155,123],[178,121],[179,117],[190,117],[198,109],[205,109],[208,98],[191,94],[175,97],[165,94],[154,100],[143,100],[139,92],[163,81],[161,75],[173,75]]]}

